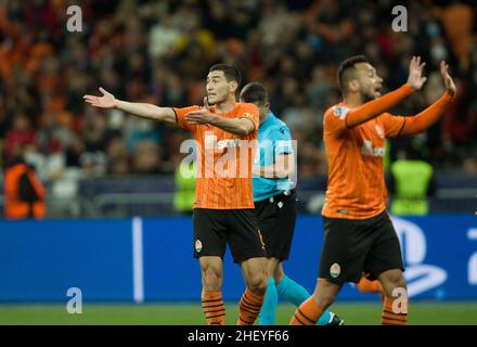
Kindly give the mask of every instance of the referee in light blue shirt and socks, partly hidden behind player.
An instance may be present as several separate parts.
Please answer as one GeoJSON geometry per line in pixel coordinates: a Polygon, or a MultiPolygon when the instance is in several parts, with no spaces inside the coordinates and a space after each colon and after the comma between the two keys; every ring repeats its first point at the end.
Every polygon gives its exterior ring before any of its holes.
{"type": "MultiPolygon", "coordinates": [[[[241,102],[254,103],[259,110],[258,142],[253,168],[255,211],[266,244],[268,258],[268,287],[259,314],[260,325],[274,325],[278,295],[299,306],[310,294],[283,271],[288,259],[297,216],[295,154],[288,127],[270,111],[268,92],[263,85],[246,85],[241,102]]],[[[318,325],[341,325],[332,312],[324,312],[318,325]]]]}

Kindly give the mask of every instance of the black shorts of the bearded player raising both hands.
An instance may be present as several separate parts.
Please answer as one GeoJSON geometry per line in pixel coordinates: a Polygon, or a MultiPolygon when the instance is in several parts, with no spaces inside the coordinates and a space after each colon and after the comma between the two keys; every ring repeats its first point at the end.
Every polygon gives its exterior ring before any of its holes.
{"type": "Polygon", "coordinates": [[[404,270],[401,247],[387,211],[354,220],[323,217],[324,240],[320,278],[333,283],[359,282],[386,270],[404,270]]]}

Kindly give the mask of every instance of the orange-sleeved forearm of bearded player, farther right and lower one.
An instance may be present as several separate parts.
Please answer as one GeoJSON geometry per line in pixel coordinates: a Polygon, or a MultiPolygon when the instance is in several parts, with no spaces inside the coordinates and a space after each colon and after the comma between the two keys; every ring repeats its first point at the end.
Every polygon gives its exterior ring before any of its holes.
{"type": "Polygon", "coordinates": [[[429,128],[433,124],[439,120],[451,101],[452,97],[446,92],[438,101],[420,114],[414,117],[405,117],[405,124],[402,128],[401,134],[416,134],[429,128]]]}

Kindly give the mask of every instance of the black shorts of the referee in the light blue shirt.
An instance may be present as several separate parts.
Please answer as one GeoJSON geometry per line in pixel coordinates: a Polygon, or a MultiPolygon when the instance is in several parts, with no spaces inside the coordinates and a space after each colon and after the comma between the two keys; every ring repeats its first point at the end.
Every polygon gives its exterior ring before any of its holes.
{"type": "Polygon", "coordinates": [[[288,259],[297,215],[295,191],[255,203],[255,213],[267,257],[288,259]]]}

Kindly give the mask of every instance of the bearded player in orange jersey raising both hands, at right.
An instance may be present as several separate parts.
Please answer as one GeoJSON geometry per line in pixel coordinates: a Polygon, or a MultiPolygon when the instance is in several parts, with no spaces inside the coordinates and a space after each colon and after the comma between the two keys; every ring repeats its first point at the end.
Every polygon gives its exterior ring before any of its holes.
{"type": "Polygon", "coordinates": [[[295,311],[291,324],[314,325],[345,282],[362,273],[383,286],[383,324],[407,324],[408,297],[401,249],[386,211],[383,155],[385,139],[423,132],[443,114],[455,86],[442,62],[443,95],[413,117],[386,113],[420,90],[424,63],[413,57],[408,82],[381,95],[383,79],[365,56],[344,61],[338,68],[343,103],[326,111],[323,138],[328,183],[322,210],[324,241],[320,274],[313,295],[295,311]]]}

